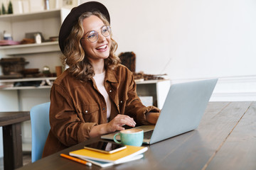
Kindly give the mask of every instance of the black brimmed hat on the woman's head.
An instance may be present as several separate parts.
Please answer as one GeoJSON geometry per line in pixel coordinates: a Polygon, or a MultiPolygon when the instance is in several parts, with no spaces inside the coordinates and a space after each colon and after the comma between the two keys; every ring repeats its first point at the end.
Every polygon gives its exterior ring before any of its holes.
{"type": "Polygon", "coordinates": [[[100,11],[100,13],[102,13],[110,23],[110,13],[103,4],[100,4],[100,2],[89,1],[81,4],[80,6],[72,8],[60,27],[58,42],[62,52],[64,52],[65,39],[68,38],[68,35],[70,34],[73,26],[75,26],[75,23],[78,21],[78,18],[82,15],[82,13],[90,11],[100,11]]]}

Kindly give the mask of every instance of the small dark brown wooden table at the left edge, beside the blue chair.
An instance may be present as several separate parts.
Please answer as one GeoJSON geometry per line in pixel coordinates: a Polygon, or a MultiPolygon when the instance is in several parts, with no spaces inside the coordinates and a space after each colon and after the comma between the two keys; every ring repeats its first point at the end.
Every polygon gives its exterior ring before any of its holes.
{"type": "Polygon", "coordinates": [[[21,123],[30,120],[29,112],[0,112],[3,127],[4,169],[23,166],[21,123]]]}

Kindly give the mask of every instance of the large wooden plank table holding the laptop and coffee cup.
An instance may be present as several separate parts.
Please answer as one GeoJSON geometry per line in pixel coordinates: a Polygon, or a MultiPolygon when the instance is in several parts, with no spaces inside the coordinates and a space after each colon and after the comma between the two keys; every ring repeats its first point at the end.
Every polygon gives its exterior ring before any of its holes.
{"type": "MultiPolygon", "coordinates": [[[[196,130],[147,146],[144,158],[105,169],[256,169],[256,102],[212,102],[196,130]]],[[[100,169],[59,156],[88,140],[21,169],[100,169]]]]}

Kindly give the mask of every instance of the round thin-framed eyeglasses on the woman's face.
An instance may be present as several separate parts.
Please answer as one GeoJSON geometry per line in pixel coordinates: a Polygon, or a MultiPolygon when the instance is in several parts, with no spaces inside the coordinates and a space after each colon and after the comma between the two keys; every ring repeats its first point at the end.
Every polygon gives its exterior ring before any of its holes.
{"type": "MultiPolygon", "coordinates": [[[[102,26],[101,33],[105,37],[110,36],[110,33],[111,33],[110,26],[102,26]]],[[[99,33],[97,33],[97,31],[95,31],[95,30],[92,30],[92,31],[86,33],[85,37],[83,37],[81,39],[87,39],[90,42],[95,42],[99,39],[99,33]]]]}

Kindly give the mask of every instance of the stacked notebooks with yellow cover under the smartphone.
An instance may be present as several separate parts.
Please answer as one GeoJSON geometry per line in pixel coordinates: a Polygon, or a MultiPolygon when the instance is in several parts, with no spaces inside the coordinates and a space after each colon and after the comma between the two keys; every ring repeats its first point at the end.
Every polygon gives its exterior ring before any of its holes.
{"type": "Polygon", "coordinates": [[[105,154],[90,149],[79,149],[70,152],[69,154],[70,156],[84,159],[87,162],[92,162],[92,164],[106,167],[141,159],[143,157],[143,153],[146,152],[147,149],[147,147],[134,147],[127,145],[126,149],[113,154],[105,154]]]}

